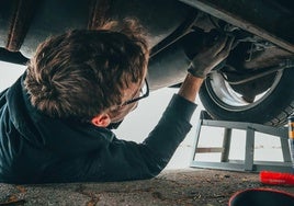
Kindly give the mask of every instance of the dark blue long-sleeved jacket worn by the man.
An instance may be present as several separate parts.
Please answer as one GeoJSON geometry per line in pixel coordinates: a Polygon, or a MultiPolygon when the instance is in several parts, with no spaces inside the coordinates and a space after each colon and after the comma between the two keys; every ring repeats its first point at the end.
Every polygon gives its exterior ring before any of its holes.
{"type": "Polygon", "coordinates": [[[0,182],[5,183],[156,176],[189,133],[196,107],[174,95],[158,125],[136,144],[117,139],[108,128],[41,114],[30,103],[23,78],[0,93],[0,182]]]}

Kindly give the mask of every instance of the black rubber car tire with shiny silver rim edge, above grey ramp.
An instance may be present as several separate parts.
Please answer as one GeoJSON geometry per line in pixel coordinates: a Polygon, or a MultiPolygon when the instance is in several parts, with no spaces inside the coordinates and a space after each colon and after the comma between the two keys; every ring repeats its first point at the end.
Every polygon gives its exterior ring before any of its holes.
{"type": "Polygon", "coordinates": [[[234,103],[226,100],[226,92],[223,95],[222,90],[231,88],[219,73],[205,79],[200,90],[200,100],[214,119],[285,125],[294,108],[294,68],[274,75],[275,80],[265,94],[253,103],[239,104],[237,101],[234,103]]]}

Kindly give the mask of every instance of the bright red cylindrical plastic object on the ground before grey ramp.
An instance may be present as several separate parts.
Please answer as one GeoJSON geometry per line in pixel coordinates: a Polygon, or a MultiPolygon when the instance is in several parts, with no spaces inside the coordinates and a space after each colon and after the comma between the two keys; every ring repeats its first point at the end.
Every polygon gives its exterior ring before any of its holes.
{"type": "Polygon", "coordinates": [[[294,185],[294,174],[272,171],[261,171],[260,182],[274,185],[294,185]]]}

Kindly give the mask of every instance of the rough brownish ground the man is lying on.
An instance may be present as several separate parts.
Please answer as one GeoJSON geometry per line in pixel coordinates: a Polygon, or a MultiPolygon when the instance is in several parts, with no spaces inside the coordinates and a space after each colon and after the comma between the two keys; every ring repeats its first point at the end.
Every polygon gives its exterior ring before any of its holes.
{"type": "Polygon", "coordinates": [[[294,187],[262,185],[258,173],[188,169],[163,171],[146,181],[46,185],[0,184],[3,205],[227,205],[246,188],[270,187],[294,194],[294,187]]]}

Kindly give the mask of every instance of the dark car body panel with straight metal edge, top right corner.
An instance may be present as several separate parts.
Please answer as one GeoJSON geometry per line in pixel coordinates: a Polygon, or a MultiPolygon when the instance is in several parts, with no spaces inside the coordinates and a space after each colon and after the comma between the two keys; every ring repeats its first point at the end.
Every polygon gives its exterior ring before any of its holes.
{"type": "Polygon", "coordinates": [[[294,12],[275,1],[180,0],[294,53],[294,12]]]}

